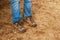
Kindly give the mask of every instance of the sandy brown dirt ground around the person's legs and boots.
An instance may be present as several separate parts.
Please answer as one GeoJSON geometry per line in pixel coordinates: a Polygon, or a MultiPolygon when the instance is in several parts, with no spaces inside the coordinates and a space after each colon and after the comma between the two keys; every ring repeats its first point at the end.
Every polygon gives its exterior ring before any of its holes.
{"type": "MultiPolygon", "coordinates": [[[[14,31],[8,5],[0,10],[0,40],[60,40],[60,0],[32,0],[36,28],[27,26],[26,33],[14,31]]],[[[21,8],[22,9],[22,8],[21,8]]]]}

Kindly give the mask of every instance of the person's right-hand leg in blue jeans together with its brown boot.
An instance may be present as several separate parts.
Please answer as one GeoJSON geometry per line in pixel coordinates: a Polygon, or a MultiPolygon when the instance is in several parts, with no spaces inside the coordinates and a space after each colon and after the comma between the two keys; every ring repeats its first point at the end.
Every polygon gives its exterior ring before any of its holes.
{"type": "Polygon", "coordinates": [[[32,0],[24,0],[24,17],[30,21],[29,24],[36,27],[37,24],[35,24],[34,19],[32,17],[32,0]]]}

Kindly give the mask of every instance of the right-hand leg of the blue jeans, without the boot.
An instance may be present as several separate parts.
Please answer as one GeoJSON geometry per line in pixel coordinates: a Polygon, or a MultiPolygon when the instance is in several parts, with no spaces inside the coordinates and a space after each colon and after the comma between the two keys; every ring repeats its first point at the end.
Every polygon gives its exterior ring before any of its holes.
{"type": "Polygon", "coordinates": [[[32,0],[24,0],[24,17],[25,18],[32,16],[31,7],[32,7],[32,0]]]}

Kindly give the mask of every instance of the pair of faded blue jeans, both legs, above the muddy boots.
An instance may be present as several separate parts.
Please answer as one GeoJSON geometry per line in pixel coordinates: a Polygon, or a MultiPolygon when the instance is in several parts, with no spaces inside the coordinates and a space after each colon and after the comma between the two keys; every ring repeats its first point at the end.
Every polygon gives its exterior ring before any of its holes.
{"type": "MultiPolygon", "coordinates": [[[[31,12],[32,0],[24,0],[24,17],[28,18],[32,16],[31,12]]],[[[20,12],[20,0],[11,0],[12,9],[12,22],[17,23],[22,19],[22,13],[20,12]]]]}

